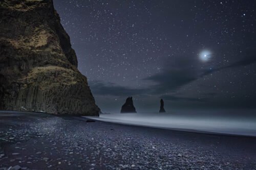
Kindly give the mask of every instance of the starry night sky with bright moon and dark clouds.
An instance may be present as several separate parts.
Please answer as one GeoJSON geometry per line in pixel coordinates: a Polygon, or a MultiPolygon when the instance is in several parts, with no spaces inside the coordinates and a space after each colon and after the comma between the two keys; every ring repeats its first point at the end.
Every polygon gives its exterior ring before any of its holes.
{"type": "Polygon", "coordinates": [[[256,107],[256,1],[53,1],[103,112],[256,107]]]}

